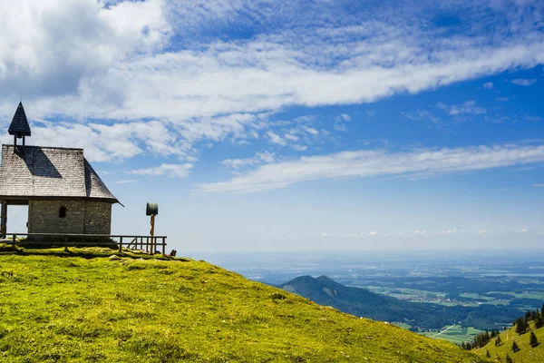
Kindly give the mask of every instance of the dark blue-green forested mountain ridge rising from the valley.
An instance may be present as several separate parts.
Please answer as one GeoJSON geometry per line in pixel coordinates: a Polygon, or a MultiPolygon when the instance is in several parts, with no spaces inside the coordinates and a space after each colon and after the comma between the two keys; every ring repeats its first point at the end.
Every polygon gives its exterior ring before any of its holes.
{"type": "Polygon", "coordinates": [[[351,288],[326,276],[316,279],[300,276],[278,287],[358,317],[406,322],[413,329],[438,329],[459,322],[477,329],[491,329],[496,327],[495,323],[509,324],[520,315],[519,309],[511,307],[486,304],[477,308],[444,307],[395,299],[367,289],[351,288]]]}

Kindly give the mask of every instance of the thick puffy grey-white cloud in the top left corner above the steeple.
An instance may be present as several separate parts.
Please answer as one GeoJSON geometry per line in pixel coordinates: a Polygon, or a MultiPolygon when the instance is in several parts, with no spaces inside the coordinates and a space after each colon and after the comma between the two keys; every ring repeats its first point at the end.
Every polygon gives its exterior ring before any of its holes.
{"type": "Polygon", "coordinates": [[[0,34],[0,95],[29,98],[77,93],[84,77],[160,48],[170,25],[160,0],[2,0],[0,34]]]}

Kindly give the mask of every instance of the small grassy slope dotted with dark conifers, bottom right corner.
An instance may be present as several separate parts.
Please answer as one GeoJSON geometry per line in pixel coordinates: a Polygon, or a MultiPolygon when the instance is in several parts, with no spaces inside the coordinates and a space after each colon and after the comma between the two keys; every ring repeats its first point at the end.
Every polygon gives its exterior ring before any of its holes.
{"type": "Polygon", "coordinates": [[[533,329],[532,331],[535,332],[541,343],[535,348],[531,348],[529,345],[530,332],[518,335],[515,328],[510,328],[500,333],[502,344],[499,347],[495,347],[495,340],[497,338],[492,338],[485,347],[474,349],[473,351],[481,355],[481,357],[485,357],[486,350],[489,350],[491,358],[499,357],[502,362],[506,361],[506,354],[508,353],[514,362],[542,363],[544,362],[544,328],[533,329]],[[520,346],[520,350],[516,353],[512,351],[512,342],[514,340],[520,346]]]}

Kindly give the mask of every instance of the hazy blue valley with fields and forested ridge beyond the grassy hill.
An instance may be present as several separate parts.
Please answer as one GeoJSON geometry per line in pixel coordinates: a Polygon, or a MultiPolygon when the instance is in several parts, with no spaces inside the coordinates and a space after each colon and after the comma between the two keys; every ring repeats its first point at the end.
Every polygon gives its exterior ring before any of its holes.
{"type": "Polygon", "coordinates": [[[455,344],[485,329],[510,327],[520,314],[544,303],[541,252],[272,252],[206,258],[319,304],[455,344]]]}

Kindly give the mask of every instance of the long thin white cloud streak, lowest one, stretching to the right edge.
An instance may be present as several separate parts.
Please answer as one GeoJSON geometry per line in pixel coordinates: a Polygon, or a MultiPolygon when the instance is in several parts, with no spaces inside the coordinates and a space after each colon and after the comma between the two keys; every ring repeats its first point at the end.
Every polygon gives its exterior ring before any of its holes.
{"type": "Polygon", "coordinates": [[[494,145],[455,149],[338,152],[261,165],[227,182],[197,185],[202,192],[251,192],[285,188],[296,182],[379,175],[406,177],[469,172],[544,162],[544,145],[494,145]]]}

